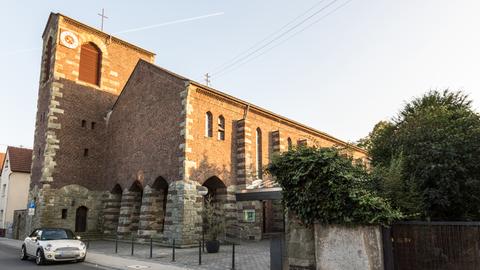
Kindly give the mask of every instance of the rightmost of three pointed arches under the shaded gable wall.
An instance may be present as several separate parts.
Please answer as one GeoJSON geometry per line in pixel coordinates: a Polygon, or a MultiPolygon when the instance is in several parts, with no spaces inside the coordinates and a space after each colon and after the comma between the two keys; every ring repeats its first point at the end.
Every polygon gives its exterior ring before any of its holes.
{"type": "Polygon", "coordinates": [[[140,213],[140,231],[142,237],[163,233],[167,209],[168,182],[159,176],[143,192],[140,213]]]}

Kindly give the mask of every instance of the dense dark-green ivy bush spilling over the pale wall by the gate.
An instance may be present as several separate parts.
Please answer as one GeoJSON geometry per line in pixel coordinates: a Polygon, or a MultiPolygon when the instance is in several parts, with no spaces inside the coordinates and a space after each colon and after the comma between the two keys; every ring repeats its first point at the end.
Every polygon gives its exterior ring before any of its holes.
{"type": "Polygon", "coordinates": [[[306,224],[388,224],[401,218],[368,189],[365,168],[339,149],[293,149],[275,156],[267,171],[283,188],[286,207],[306,224]]]}

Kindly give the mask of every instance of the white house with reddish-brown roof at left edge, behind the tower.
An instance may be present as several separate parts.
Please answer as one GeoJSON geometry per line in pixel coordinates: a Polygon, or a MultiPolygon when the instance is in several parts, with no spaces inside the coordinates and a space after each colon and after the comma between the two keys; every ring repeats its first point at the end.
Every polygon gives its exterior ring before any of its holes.
{"type": "Polygon", "coordinates": [[[27,208],[32,150],[9,146],[1,164],[0,229],[7,230],[14,211],[27,208]]]}

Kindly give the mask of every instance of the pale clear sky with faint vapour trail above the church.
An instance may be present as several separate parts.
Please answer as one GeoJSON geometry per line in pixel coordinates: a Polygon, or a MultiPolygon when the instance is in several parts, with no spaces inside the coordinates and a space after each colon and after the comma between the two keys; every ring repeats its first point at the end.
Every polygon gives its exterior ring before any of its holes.
{"type": "Polygon", "coordinates": [[[0,0],[0,150],[33,146],[49,13],[100,27],[102,8],[106,32],[141,28],[116,36],[157,65],[199,82],[209,72],[212,87],[346,141],[431,89],[462,90],[480,111],[478,0],[0,0]]]}

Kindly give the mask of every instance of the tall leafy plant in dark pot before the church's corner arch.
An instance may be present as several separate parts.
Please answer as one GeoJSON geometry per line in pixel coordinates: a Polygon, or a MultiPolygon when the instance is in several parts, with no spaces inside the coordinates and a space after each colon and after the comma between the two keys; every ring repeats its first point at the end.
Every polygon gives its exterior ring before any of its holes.
{"type": "Polygon", "coordinates": [[[212,198],[207,198],[203,207],[203,228],[205,230],[205,245],[208,253],[217,253],[220,249],[218,236],[225,231],[223,216],[223,211],[212,202],[212,198]]]}

